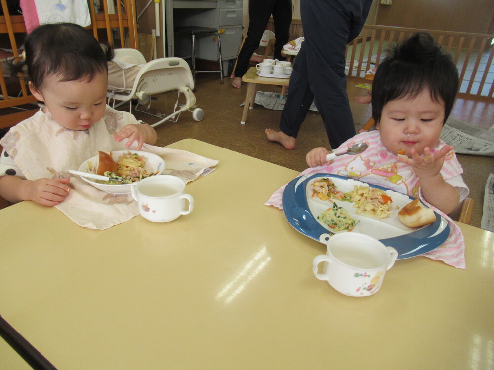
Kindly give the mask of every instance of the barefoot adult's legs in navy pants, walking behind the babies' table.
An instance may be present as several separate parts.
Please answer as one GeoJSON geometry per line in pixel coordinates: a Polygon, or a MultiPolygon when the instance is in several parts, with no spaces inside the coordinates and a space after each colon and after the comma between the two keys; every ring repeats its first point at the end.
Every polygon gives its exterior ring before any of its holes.
{"type": "Polygon", "coordinates": [[[345,48],[358,36],[372,0],[301,0],[305,40],[296,57],[280,130],[269,140],[295,148],[295,139],[312,101],[323,119],[331,148],[355,135],[346,93],[345,48]]]}

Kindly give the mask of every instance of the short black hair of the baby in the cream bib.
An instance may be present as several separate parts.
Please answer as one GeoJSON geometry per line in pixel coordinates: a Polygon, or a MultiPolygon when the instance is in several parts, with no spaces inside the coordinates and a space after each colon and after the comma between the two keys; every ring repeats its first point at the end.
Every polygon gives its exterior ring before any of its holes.
{"type": "Polygon", "coordinates": [[[113,48],[103,49],[90,30],[74,23],[38,26],[26,37],[24,48],[24,61],[11,64],[11,74],[26,73],[38,90],[47,75],[61,81],[91,81],[97,73],[107,73],[114,55],[113,48]]]}

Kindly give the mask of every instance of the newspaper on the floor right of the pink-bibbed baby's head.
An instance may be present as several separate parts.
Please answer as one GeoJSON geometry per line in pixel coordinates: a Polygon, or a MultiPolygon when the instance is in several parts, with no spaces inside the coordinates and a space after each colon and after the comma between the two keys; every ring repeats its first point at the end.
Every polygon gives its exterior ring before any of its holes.
{"type": "Polygon", "coordinates": [[[441,139],[453,145],[459,154],[494,156],[494,125],[486,130],[450,117],[443,127],[441,139]]]}

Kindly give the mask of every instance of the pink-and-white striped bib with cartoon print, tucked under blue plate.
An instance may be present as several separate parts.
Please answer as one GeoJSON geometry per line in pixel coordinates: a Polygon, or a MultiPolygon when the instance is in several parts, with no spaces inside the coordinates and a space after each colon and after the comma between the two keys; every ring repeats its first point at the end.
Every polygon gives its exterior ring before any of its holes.
{"type": "MultiPolygon", "coordinates": [[[[402,194],[407,194],[420,200],[434,209],[438,214],[443,216],[450,226],[450,236],[446,242],[435,250],[424,254],[431,259],[441,260],[451,266],[465,269],[465,241],[460,228],[451,220],[448,215],[444,214],[422,196],[420,191],[420,181],[413,171],[412,167],[405,163],[396,161],[396,154],[387,150],[380,139],[379,131],[363,132],[354,136],[352,139],[343,143],[339,148],[334,150],[335,153],[342,153],[356,143],[367,143],[369,148],[362,155],[342,155],[336,157],[334,162],[329,166],[319,166],[308,168],[298,176],[309,175],[314,173],[330,173],[351,177],[364,181],[369,184],[379,185],[402,194]]],[[[432,152],[438,151],[446,145],[440,140],[432,152]]],[[[453,150],[445,157],[441,175],[448,181],[463,173],[453,150]]],[[[287,184],[275,191],[269,200],[265,203],[267,206],[282,207],[283,190],[287,184]]]]}

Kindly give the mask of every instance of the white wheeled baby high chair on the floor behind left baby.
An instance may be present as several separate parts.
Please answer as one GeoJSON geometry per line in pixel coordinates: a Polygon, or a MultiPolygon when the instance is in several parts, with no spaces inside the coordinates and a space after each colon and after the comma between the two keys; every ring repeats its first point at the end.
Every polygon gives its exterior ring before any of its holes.
{"type": "MultiPolygon", "coordinates": [[[[114,105],[114,107],[118,107],[129,100],[137,99],[138,104],[135,107],[136,111],[162,118],[160,121],[152,124],[152,127],[156,127],[167,120],[176,122],[180,113],[183,111],[192,112],[192,118],[196,121],[203,119],[204,112],[201,108],[196,107],[194,110],[191,110],[196,103],[196,97],[192,92],[194,80],[189,65],[183,59],[175,57],[159,58],[146,63],[141,52],[135,49],[115,49],[115,59],[124,63],[142,65],[142,67],[128,89],[125,89],[124,91],[108,89],[107,96],[109,101],[111,99],[114,99],[114,103],[115,100],[122,101],[117,105],[114,105]],[[165,118],[137,109],[139,105],[145,105],[148,104],[148,102],[151,102],[152,94],[173,90],[178,91],[177,101],[173,113],[165,118]],[[184,94],[186,102],[177,109],[181,93],[184,94]],[[172,120],[172,118],[175,119],[172,120]]],[[[130,112],[132,112],[132,103],[130,103],[130,112]]]]}

